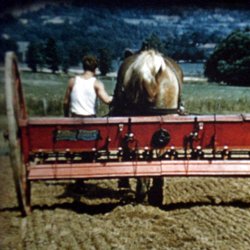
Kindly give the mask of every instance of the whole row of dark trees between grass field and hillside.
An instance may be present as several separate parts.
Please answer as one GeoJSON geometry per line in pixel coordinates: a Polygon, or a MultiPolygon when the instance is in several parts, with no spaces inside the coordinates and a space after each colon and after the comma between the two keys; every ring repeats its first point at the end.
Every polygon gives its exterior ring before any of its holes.
{"type": "MultiPolygon", "coordinates": [[[[68,35],[70,34],[65,32],[65,36],[68,35]]],[[[90,46],[91,41],[88,39],[70,40],[69,37],[64,37],[64,39],[65,43],[54,37],[48,38],[45,42],[41,40],[30,42],[26,54],[28,67],[34,72],[45,67],[53,73],[59,69],[67,72],[69,67],[79,65],[83,55],[94,54],[99,60],[101,74],[105,75],[112,70],[112,60],[117,59],[117,56],[122,58],[125,48],[131,45],[121,41],[118,53],[114,52],[115,49],[105,41],[99,43],[92,40],[90,46]]],[[[119,43],[120,40],[117,37],[116,39],[119,43]]],[[[204,74],[209,80],[250,86],[248,76],[250,72],[250,28],[232,32],[218,43],[209,56],[204,55],[204,51],[197,48],[200,39],[200,34],[197,32],[193,32],[192,36],[189,34],[179,38],[169,33],[167,39],[160,38],[157,33],[151,33],[142,39],[142,44],[147,43],[149,48],[156,49],[175,60],[197,61],[205,58],[204,74]]],[[[1,38],[0,48],[2,58],[4,58],[4,51],[17,51],[16,42],[11,39],[1,38]]]]}

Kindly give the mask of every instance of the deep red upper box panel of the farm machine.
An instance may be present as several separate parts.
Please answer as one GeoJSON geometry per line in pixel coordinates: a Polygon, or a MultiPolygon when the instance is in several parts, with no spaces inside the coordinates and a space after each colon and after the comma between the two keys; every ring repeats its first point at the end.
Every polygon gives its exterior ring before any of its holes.
{"type": "MultiPolygon", "coordinates": [[[[247,116],[249,117],[249,116],[247,116]]],[[[184,140],[202,123],[203,129],[193,141],[193,147],[201,146],[217,149],[228,146],[229,149],[250,149],[250,119],[242,116],[164,116],[164,117],[133,117],[131,131],[139,148],[150,147],[151,138],[160,128],[166,129],[171,136],[167,148],[174,146],[184,148],[184,140]],[[214,142],[214,139],[216,142],[214,142]]],[[[22,145],[25,159],[30,152],[39,150],[55,152],[91,151],[92,148],[102,149],[110,138],[109,149],[117,149],[122,145],[123,138],[128,132],[128,118],[91,118],[91,119],[30,119],[21,126],[22,145]],[[120,127],[123,127],[120,131],[120,127]],[[98,141],[55,141],[57,130],[99,130],[101,139],[98,141]]],[[[190,145],[189,145],[190,146],[190,145]]]]}

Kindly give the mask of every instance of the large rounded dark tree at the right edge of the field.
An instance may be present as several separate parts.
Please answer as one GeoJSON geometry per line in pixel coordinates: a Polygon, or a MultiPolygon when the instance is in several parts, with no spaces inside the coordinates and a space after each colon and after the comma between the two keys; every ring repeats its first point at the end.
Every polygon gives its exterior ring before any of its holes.
{"type": "Polygon", "coordinates": [[[250,86],[250,31],[235,31],[224,39],[205,64],[212,81],[250,86]]]}

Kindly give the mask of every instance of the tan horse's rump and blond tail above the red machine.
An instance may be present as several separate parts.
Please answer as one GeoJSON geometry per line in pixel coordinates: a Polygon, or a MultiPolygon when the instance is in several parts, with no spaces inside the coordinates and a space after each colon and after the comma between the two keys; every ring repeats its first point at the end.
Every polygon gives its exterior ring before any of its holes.
{"type": "Polygon", "coordinates": [[[183,72],[156,50],[135,53],[123,61],[110,105],[112,116],[177,113],[181,107],[183,72]]]}

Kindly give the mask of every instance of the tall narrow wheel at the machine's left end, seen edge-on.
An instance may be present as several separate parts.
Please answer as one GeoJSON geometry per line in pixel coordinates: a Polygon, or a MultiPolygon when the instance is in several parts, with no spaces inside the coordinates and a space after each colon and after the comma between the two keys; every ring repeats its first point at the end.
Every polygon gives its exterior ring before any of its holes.
{"type": "Polygon", "coordinates": [[[8,139],[10,161],[13,170],[15,189],[19,208],[23,216],[30,213],[30,183],[27,180],[26,167],[22,159],[21,143],[19,138],[18,118],[20,117],[20,103],[16,86],[20,83],[17,61],[13,52],[5,56],[5,96],[8,122],[8,139]]]}

